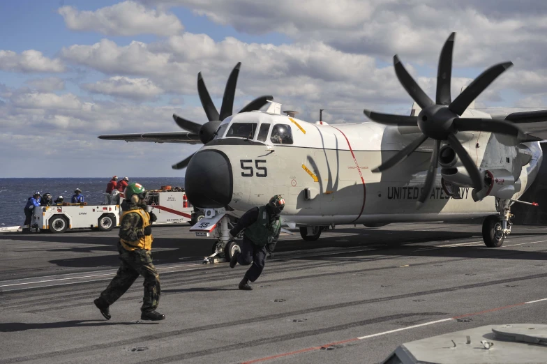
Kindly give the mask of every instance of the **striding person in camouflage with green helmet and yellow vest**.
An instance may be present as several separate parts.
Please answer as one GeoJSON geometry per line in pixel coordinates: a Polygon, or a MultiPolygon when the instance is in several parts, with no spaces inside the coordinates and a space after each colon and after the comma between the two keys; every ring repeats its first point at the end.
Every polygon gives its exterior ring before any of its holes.
{"type": "Polygon", "coordinates": [[[144,297],[142,298],[141,319],[158,321],[165,315],[156,312],[160,301],[160,276],[152,264],[152,222],[156,215],[147,212],[144,199],[147,192],[139,183],[130,183],[125,190],[125,200],[121,204],[123,214],[118,242],[120,267],[95,305],[105,319],[110,320],[110,305],[117,301],[142,275],[144,277],[144,297]]]}

